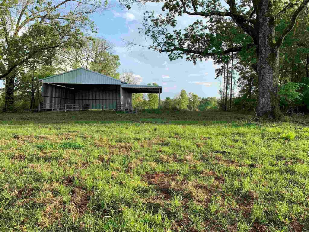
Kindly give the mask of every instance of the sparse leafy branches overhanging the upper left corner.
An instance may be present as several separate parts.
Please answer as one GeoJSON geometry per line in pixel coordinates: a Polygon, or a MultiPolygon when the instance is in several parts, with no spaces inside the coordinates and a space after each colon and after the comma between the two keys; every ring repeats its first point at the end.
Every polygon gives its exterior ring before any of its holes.
{"type": "Polygon", "coordinates": [[[0,79],[46,50],[78,47],[83,33],[96,32],[89,16],[111,6],[96,0],[2,1],[0,79]]]}

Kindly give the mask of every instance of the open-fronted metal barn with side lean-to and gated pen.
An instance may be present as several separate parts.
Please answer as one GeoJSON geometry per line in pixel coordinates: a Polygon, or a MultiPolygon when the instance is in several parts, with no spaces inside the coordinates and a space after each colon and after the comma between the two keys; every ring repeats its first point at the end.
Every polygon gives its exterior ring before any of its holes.
{"type": "Polygon", "coordinates": [[[162,93],[161,86],[127,84],[85,68],[53,75],[42,82],[39,111],[79,111],[134,109],[132,94],[162,93]]]}

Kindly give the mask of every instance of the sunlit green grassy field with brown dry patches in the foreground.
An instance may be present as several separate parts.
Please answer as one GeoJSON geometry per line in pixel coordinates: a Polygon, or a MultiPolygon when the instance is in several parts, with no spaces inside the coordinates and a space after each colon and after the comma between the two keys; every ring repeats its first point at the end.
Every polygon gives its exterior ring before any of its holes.
{"type": "Polygon", "coordinates": [[[0,114],[0,231],[309,229],[309,127],[129,117],[0,114]]]}

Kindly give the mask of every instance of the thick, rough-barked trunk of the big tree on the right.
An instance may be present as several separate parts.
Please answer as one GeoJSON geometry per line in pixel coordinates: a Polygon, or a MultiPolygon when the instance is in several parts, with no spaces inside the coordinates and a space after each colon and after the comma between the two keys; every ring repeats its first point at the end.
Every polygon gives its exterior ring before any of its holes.
{"type": "Polygon", "coordinates": [[[257,73],[259,78],[259,116],[282,118],[278,102],[279,48],[275,44],[273,6],[269,1],[261,2],[259,17],[259,47],[257,50],[257,73]]]}

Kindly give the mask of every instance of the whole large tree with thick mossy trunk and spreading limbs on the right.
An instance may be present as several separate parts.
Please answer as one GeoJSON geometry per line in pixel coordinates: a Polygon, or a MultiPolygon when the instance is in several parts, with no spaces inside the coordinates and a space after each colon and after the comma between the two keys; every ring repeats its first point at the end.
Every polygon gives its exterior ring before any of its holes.
{"type": "MultiPolygon", "coordinates": [[[[134,2],[158,2],[152,0],[123,0],[130,9],[134,2]]],[[[252,51],[257,62],[252,65],[258,74],[259,115],[281,118],[278,105],[278,59],[279,48],[286,35],[294,28],[298,15],[307,7],[309,0],[163,0],[166,14],[155,16],[146,12],[142,33],[150,37],[152,45],[146,46],[161,52],[168,52],[171,60],[187,56],[196,62],[212,56],[231,52],[252,51]],[[177,30],[177,21],[182,15],[200,17],[193,24],[177,30]],[[284,17],[283,17],[284,16],[284,17]],[[210,33],[209,25],[218,17],[230,18],[243,31],[243,37],[235,34],[233,46],[225,48],[222,33],[210,33]],[[285,20],[289,18],[289,20],[285,20]],[[172,31],[171,28],[174,28],[172,31]]],[[[219,20],[218,20],[219,21],[219,20]]],[[[232,28],[231,28],[232,29],[232,28]]],[[[129,45],[135,45],[129,42],[129,45]]]]}

